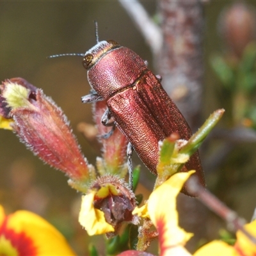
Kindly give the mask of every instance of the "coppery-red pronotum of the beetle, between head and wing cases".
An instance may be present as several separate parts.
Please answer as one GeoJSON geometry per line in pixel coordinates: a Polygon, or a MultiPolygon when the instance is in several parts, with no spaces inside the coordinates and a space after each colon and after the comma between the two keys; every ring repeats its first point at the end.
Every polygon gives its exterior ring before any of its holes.
{"type": "MultiPolygon", "coordinates": [[[[102,50],[103,51],[103,50],[102,50]]],[[[88,81],[104,99],[132,87],[147,70],[145,62],[127,47],[118,47],[104,53],[90,69],[88,81]]]]}

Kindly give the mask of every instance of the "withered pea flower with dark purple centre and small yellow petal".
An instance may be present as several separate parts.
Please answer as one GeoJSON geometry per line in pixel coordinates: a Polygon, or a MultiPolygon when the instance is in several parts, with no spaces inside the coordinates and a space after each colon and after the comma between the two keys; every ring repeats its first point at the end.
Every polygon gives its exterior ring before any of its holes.
{"type": "Polygon", "coordinates": [[[79,222],[90,236],[113,237],[124,221],[138,224],[138,217],[132,215],[135,206],[135,195],[124,180],[105,175],[95,180],[83,196],[79,222]]]}

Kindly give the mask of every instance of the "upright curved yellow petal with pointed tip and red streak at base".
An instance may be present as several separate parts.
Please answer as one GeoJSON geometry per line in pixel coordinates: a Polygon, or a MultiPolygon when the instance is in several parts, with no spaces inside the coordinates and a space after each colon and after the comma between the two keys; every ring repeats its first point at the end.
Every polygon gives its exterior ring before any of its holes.
{"type": "Polygon", "coordinates": [[[148,199],[148,213],[150,220],[159,232],[161,255],[171,248],[184,245],[193,234],[185,232],[179,227],[176,210],[176,197],[184,182],[194,173],[175,173],[170,179],[159,186],[148,199]]]}

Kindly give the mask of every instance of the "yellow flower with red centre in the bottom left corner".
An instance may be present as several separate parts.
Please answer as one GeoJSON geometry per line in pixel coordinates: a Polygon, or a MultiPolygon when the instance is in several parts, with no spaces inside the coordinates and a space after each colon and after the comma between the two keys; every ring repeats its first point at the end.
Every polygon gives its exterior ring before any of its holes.
{"type": "Polygon", "coordinates": [[[0,255],[76,255],[65,237],[29,211],[6,216],[0,205],[0,255]]]}

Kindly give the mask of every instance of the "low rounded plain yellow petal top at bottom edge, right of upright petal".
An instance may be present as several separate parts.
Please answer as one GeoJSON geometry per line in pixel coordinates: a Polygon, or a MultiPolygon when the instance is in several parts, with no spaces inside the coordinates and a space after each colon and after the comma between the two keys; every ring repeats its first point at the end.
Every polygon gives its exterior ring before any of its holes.
{"type": "Polygon", "coordinates": [[[233,246],[223,241],[212,241],[211,243],[205,244],[199,250],[197,250],[193,256],[240,256],[233,246]]]}

